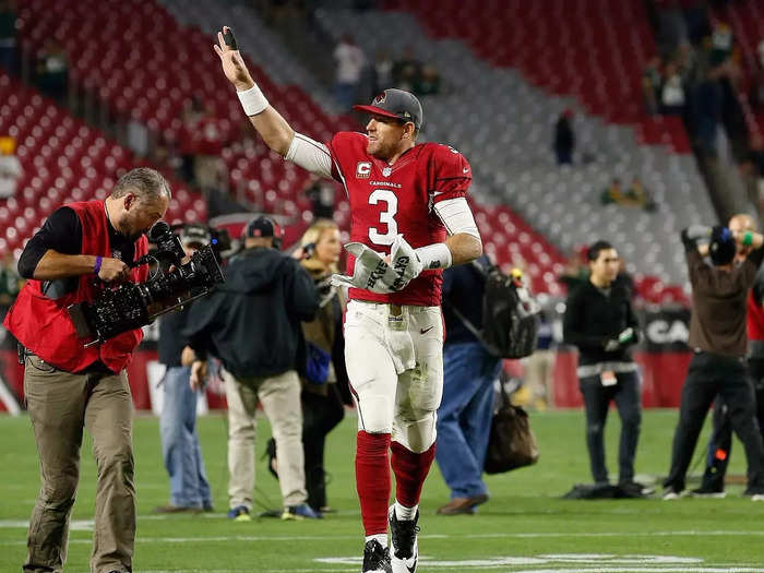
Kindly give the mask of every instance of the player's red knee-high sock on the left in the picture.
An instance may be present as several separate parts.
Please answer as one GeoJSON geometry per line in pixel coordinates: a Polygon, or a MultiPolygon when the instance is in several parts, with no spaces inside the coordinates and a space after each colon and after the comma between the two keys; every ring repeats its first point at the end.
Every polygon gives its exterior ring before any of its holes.
{"type": "Polygon", "coordinates": [[[366,535],[387,533],[390,502],[389,433],[358,432],[356,443],[356,489],[361,503],[366,535]]]}

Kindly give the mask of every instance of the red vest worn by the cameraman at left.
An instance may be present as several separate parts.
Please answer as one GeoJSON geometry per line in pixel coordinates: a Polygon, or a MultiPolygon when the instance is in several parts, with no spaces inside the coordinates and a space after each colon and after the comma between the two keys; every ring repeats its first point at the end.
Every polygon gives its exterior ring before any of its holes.
{"type": "MultiPolygon", "coordinates": [[[[82,254],[111,256],[109,227],[103,201],[69,203],[82,224],[82,254]]],[[[145,236],[135,241],[135,259],[146,254],[148,241],[145,236]]],[[[131,271],[133,283],[145,280],[145,265],[131,271]]],[[[122,370],[141,343],[141,329],[124,332],[100,345],[85,348],[89,338],[80,338],[69,318],[67,307],[76,302],[92,302],[97,294],[93,285],[95,275],[80,277],[76,290],[56,300],[43,294],[43,282],[31,279],[22,288],[13,307],[8,311],[3,324],[13,336],[46,362],[67,372],[79,372],[96,360],[104,362],[114,372],[122,370]]]]}

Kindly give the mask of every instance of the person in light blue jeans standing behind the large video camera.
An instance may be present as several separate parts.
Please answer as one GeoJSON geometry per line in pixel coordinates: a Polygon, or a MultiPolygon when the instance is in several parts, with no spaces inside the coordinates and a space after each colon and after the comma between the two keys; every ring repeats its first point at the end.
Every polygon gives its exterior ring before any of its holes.
{"type": "MultiPolygon", "coordinates": [[[[210,231],[203,225],[187,225],[180,232],[187,260],[198,249],[210,243],[210,231]]],[[[164,401],[159,416],[162,456],[170,477],[170,501],[156,513],[212,511],[212,493],[207,481],[202,449],[196,433],[196,402],[199,394],[191,387],[193,351],[186,350],[182,330],[190,306],[159,318],[157,350],[159,363],[165,365],[162,379],[164,401]]]]}

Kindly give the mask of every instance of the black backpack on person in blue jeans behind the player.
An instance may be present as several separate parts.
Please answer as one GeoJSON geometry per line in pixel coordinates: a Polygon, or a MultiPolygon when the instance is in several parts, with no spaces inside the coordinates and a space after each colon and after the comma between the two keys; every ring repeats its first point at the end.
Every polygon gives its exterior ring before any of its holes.
{"type": "Polygon", "coordinates": [[[490,262],[474,261],[473,265],[486,277],[482,295],[482,329],[478,331],[459,310],[449,308],[486,349],[497,358],[524,358],[536,349],[541,308],[514,277],[504,274],[490,262]]]}

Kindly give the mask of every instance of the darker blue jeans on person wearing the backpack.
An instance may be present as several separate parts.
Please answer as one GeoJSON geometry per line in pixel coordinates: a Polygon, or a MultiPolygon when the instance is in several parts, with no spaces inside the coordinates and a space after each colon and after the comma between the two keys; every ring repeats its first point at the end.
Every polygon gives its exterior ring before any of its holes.
{"type": "Polygon", "coordinates": [[[488,493],[482,466],[493,417],[493,381],[500,369],[501,360],[477,342],[443,347],[435,459],[451,499],[488,493]]]}

